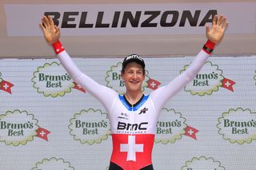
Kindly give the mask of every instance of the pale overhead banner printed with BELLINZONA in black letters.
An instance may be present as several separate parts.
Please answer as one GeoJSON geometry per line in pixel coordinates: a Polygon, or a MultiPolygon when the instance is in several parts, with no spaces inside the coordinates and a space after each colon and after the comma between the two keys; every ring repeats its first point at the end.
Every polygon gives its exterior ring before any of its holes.
{"type": "Polygon", "coordinates": [[[8,36],[42,35],[44,14],[67,36],[202,34],[214,14],[229,18],[228,34],[254,34],[255,9],[256,2],[5,5],[8,36]]]}

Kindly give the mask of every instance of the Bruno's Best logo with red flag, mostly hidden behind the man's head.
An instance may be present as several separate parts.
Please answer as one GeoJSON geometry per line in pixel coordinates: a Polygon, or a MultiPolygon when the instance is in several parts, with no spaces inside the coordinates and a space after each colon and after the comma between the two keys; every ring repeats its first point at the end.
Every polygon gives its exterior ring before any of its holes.
{"type": "MultiPolygon", "coordinates": [[[[116,92],[123,94],[126,92],[126,87],[124,81],[121,78],[122,62],[118,62],[117,65],[112,65],[110,70],[106,72],[106,86],[114,89],[116,92]]],[[[159,81],[156,81],[148,77],[148,71],[145,73],[145,81],[142,83],[142,91],[148,89],[158,89],[158,86],[161,85],[159,81]]]]}

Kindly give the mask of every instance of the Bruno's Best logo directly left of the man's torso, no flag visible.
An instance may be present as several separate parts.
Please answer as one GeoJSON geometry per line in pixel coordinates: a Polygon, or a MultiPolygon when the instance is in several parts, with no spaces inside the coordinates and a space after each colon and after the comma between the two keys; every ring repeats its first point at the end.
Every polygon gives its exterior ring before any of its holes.
{"type": "Polygon", "coordinates": [[[70,135],[81,144],[100,144],[110,134],[107,114],[101,110],[81,110],[70,119],[70,135]]]}

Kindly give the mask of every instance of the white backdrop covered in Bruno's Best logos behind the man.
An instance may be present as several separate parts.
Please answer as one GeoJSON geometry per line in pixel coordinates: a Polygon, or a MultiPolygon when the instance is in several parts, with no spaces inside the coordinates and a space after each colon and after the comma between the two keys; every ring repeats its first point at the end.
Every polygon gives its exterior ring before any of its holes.
{"type": "MultiPolygon", "coordinates": [[[[182,73],[193,57],[146,58],[144,93],[182,73]]],[[[122,59],[74,59],[119,93],[122,59]]],[[[255,169],[256,56],[210,57],[162,109],[154,140],[158,170],[255,169]]],[[[0,62],[0,169],[107,169],[106,110],[57,59],[0,62]]]]}

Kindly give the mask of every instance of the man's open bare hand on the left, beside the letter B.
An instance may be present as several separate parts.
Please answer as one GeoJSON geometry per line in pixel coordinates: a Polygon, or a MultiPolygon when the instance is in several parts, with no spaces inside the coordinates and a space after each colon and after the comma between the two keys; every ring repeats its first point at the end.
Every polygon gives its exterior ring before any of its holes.
{"type": "Polygon", "coordinates": [[[54,21],[50,16],[43,16],[42,23],[39,23],[39,26],[49,45],[58,42],[61,32],[58,26],[54,25],[54,21]]]}

